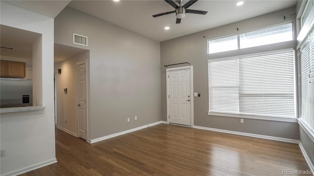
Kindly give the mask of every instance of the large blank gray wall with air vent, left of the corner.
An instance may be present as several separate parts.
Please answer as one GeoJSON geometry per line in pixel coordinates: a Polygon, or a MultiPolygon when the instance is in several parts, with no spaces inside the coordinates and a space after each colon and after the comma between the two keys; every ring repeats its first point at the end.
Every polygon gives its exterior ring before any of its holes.
{"type": "Polygon", "coordinates": [[[54,22],[55,43],[90,50],[90,139],[161,120],[159,42],[70,7],[54,22]]]}

